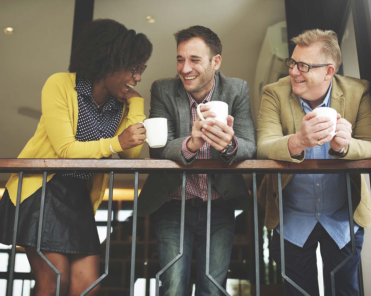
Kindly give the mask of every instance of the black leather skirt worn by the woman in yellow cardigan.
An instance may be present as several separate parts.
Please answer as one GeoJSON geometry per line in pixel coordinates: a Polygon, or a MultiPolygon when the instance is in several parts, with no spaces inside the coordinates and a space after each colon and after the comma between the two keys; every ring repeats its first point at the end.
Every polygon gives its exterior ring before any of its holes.
{"type": "MultiPolygon", "coordinates": [[[[41,190],[20,204],[18,246],[36,247],[41,190]]],[[[15,209],[6,189],[0,200],[0,243],[5,245],[12,244],[15,209]]],[[[101,252],[85,179],[56,174],[46,183],[40,246],[42,250],[57,253],[96,255],[101,252]]]]}

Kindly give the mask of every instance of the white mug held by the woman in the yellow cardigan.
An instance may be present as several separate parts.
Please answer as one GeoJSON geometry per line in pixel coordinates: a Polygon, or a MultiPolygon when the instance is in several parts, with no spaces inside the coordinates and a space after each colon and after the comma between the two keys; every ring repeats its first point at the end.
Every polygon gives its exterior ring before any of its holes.
{"type": "Polygon", "coordinates": [[[151,148],[160,148],[167,141],[167,119],[162,117],[148,118],[140,122],[146,129],[146,141],[151,148]]]}

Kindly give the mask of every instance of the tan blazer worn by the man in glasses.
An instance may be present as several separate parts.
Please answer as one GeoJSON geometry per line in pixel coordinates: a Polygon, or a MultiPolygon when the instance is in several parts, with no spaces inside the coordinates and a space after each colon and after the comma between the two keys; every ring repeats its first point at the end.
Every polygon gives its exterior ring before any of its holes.
{"type": "MultiPolygon", "coordinates": [[[[371,158],[371,97],[370,83],[366,80],[334,75],[330,106],[352,124],[352,138],[348,153],[343,159],[371,158]]],[[[276,83],[263,88],[263,97],[257,118],[257,158],[301,162],[305,151],[298,157],[290,157],[288,139],[301,128],[305,112],[297,95],[293,94],[290,77],[281,78],[276,83]]],[[[331,148],[329,155],[341,158],[331,148]]],[[[293,174],[282,175],[282,188],[288,184],[293,174]]],[[[351,174],[352,204],[354,221],[362,226],[371,225],[371,199],[367,185],[361,174],[351,174]]],[[[258,198],[265,201],[267,229],[279,223],[277,176],[265,175],[260,185],[258,198]]]]}

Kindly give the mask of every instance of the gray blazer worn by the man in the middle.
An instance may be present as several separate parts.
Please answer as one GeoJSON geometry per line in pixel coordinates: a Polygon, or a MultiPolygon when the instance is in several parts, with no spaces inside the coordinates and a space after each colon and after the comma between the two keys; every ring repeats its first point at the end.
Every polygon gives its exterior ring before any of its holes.
{"type": "MultiPolygon", "coordinates": [[[[234,137],[237,153],[228,160],[233,161],[256,157],[255,127],[251,117],[249,87],[246,81],[225,77],[215,73],[215,89],[211,101],[228,104],[228,114],[234,117],[234,137]]],[[[155,81],[151,87],[150,118],[165,117],[168,138],[165,147],[150,148],[151,158],[172,159],[190,164],[181,154],[181,144],[190,135],[190,106],[187,93],[180,78],[166,78],[155,81]]],[[[220,152],[211,147],[212,159],[221,159],[220,152]]],[[[165,203],[182,185],[181,173],[150,174],[138,197],[138,215],[148,215],[165,203]]],[[[248,209],[251,197],[240,174],[216,174],[215,188],[225,201],[236,209],[248,209]]]]}

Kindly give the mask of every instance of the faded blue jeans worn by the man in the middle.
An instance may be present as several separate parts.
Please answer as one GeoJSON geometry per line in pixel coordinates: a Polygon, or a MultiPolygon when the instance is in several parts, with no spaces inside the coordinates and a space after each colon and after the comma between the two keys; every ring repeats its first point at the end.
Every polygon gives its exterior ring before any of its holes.
{"type": "MultiPolygon", "coordinates": [[[[164,203],[156,212],[156,237],[161,268],[179,254],[181,201],[164,203]]],[[[196,295],[224,295],[206,277],[207,203],[187,201],[184,218],[183,256],[166,270],[160,280],[160,295],[189,295],[193,245],[196,253],[196,295]]],[[[210,275],[226,288],[234,235],[234,209],[223,199],[211,202],[210,275]]]]}

